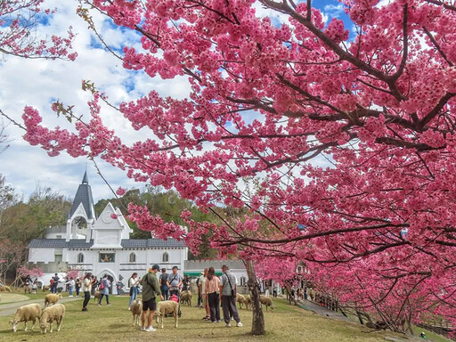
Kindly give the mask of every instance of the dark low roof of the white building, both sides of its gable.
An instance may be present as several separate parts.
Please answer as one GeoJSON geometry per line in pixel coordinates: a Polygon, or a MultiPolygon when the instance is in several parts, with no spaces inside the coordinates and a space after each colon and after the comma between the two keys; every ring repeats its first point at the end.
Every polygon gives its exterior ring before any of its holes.
{"type": "MultiPolygon", "coordinates": [[[[122,240],[121,244],[123,248],[185,247],[183,240],[175,239],[130,239],[122,240]]],[[[75,239],[67,242],[64,239],[34,239],[28,243],[28,248],[90,248],[93,245],[94,240],[85,242],[82,239],[75,239]]]]}

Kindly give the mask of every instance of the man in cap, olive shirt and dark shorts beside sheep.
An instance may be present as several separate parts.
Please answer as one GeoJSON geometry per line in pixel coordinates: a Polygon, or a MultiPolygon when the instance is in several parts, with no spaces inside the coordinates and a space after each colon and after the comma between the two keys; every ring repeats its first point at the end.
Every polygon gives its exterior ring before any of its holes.
{"type": "Polygon", "coordinates": [[[160,292],[159,280],[157,279],[157,273],[159,272],[160,266],[153,265],[152,268],[146,273],[141,280],[142,284],[142,331],[155,331],[152,327],[152,318],[155,310],[157,309],[157,303],[155,302],[155,297],[160,296],[163,300],[163,296],[160,292]],[[149,315],[147,315],[147,310],[149,310],[149,315]],[[147,328],[146,328],[146,315],[147,315],[147,328]]]}

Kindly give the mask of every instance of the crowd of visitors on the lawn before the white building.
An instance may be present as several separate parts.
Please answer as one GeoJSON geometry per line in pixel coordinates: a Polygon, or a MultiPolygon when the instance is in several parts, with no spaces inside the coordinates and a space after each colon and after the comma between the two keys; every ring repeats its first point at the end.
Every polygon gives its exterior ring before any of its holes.
{"type": "MultiPolygon", "coordinates": [[[[220,313],[220,307],[222,307],[226,327],[231,327],[232,320],[236,322],[236,326],[242,326],[236,307],[237,282],[236,275],[230,271],[227,265],[222,266],[220,277],[216,276],[214,267],[206,268],[200,274],[196,281],[198,287],[197,306],[205,309],[203,320],[212,323],[222,322],[220,313]]],[[[36,292],[37,279],[31,281],[28,277],[24,286],[30,287],[32,291],[36,292]]],[[[76,297],[84,297],[82,311],[88,311],[87,305],[90,298],[95,296],[95,291],[100,292],[98,305],[102,305],[103,298],[106,298],[106,305],[110,305],[111,286],[117,289],[119,296],[124,284],[121,281],[111,283],[108,274],[104,274],[100,279],[97,279],[92,273],[85,273],[84,277],[76,279],[67,277],[61,280],[58,273],[55,273],[50,281],[49,289],[52,293],[66,290],[69,292],[69,297],[74,297],[75,293],[76,297]],[[65,288],[59,287],[59,284],[64,284],[65,288]]],[[[152,265],[141,278],[138,273],[133,273],[127,281],[127,287],[130,290],[128,310],[130,310],[139,293],[142,292],[142,330],[154,331],[151,320],[157,308],[156,297],[160,297],[161,300],[179,302],[183,291],[191,289],[191,281],[188,276],[182,276],[178,273],[177,266],[172,268],[171,273],[167,273],[166,268],[160,270],[159,265],[152,265]]],[[[181,316],[180,306],[178,315],[181,316]]]]}

